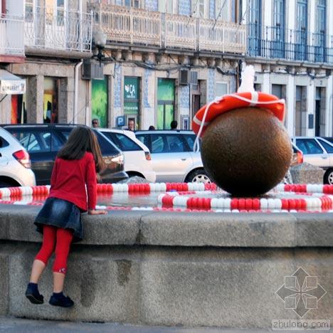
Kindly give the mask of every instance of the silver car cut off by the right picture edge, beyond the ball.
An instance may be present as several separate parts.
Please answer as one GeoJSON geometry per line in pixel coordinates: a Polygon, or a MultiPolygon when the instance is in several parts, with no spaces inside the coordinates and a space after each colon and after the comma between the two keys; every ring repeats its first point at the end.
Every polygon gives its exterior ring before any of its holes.
{"type": "Polygon", "coordinates": [[[325,170],[324,184],[333,184],[333,144],[322,137],[292,137],[302,150],[304,162],[325,170]]]}

